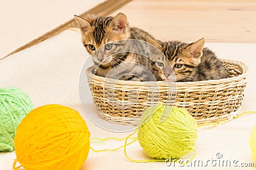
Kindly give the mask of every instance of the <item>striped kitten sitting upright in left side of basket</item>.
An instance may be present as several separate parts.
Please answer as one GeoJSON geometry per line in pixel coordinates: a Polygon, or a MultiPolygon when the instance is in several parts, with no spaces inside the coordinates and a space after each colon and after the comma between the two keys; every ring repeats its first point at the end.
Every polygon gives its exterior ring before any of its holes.
{"type": "Polygon", "coordinates": [[[97,17],[93,20],[75,15],[75,19],[81,29],[83,45],[92,55],[97,67],[95,74],[133,81],[161,79],[159,71],[156,71],[156,75],[148,71],[151,63],[143,56],[147,55],[146,36],[154,38],[148,32],[130,27],[123,13],[118,13],[115,17],[97,17]]]}

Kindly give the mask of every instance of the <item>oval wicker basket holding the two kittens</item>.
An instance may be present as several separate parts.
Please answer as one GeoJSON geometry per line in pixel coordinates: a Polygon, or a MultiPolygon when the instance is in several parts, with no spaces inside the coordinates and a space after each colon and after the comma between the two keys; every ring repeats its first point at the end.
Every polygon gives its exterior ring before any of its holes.
{"type": "Polygon", "coordinates": [[[236,60],[220,59],[230,74],[221,80],[166,83],[124,81],[95,76],[86,69],[93,101],[100,117],[122,125],[138,125],[141,113],[159,101],[191,113],[198,124],[234,117],[244,97],[248,67],[236,60]]]}

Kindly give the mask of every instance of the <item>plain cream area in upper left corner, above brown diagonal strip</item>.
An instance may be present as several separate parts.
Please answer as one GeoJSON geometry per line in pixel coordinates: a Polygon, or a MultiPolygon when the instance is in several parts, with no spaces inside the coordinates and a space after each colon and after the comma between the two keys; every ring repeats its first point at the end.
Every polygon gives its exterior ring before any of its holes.
{"type": "Polygon", "coordinates": [[[102,1],[0,1],[0,58],[102,1]]]}

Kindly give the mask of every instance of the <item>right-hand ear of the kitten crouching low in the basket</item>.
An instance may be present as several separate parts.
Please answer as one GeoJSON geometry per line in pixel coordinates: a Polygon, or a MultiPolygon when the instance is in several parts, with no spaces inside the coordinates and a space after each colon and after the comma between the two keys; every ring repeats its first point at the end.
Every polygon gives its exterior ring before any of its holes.
{"type": "Polygon", "coordinates": [[[188,46],[188,51],[191,57],[195,59],[201,59],[204,50],[204,42],[205,39],[201,38],[198,41],[195,41],[195,43],[191,43],[191,45],[188,46]]]}

